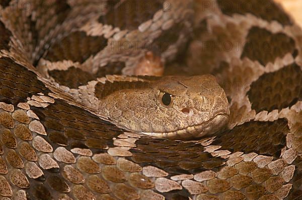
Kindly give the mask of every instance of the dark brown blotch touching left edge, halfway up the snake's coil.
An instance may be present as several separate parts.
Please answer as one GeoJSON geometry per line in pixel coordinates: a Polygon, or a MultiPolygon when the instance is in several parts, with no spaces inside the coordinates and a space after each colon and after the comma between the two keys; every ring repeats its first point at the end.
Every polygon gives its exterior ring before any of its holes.
{"type": "Polygon", "coordinates": [[[0,101],[17,105],[39,92],[48,93],[49,90],[37,79],[34,72],[16,64],[10,58],[0,58],[0,101]]]}

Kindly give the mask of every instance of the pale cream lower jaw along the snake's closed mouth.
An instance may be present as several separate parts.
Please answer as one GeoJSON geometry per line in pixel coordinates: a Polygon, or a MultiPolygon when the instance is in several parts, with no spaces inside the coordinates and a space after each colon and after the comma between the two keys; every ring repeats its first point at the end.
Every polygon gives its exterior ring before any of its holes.
{"type": "Polygon", "coordinates": [[[196,139],[205,136],[207,134],[213,134],[221,130],[228,121],[229,121],[229,115],[220,113],[201,124],[188,126],[180,130],[175,130],[165,133],[156,133],[156,132],[149,132],[149,133],[141,132],[141,133],[145,135],[163,137],[169,139],[192,139],[192,138],[196,139]]]}

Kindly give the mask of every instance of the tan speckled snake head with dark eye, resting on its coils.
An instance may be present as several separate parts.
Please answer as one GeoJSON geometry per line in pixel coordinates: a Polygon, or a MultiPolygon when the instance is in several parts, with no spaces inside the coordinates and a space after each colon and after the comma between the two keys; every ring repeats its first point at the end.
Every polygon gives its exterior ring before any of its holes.
{"type": "Polygon", "coordinates": [[[139,77],[96,85],[98,109],[131,131],[173,139],[213,134],[229,121],[229,102],[211,75],[139,77]]]}

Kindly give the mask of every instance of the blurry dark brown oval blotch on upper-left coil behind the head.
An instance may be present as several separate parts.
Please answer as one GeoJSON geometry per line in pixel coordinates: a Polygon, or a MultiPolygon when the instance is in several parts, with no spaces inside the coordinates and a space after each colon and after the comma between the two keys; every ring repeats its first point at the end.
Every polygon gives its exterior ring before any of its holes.
{"type": "Polygon", "coordinates": [[[53,44],[44,59],[51,62],[71,60],[84,63],[107,46],[103,36],[87,36],[83,31],[72,32],[53,44]]]}

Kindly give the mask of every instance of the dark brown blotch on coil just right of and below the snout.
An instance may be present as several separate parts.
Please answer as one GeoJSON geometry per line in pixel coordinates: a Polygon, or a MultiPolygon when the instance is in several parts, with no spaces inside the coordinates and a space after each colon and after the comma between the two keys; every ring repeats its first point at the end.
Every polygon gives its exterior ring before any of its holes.
{"type": "Polygon", "coordinates": [[[251,121],[217,135],[212,145],[233,149],[234,152],[256,152],[279,157],[288,132],[285,119],[273,122],[251,121]]]}

